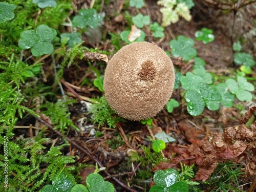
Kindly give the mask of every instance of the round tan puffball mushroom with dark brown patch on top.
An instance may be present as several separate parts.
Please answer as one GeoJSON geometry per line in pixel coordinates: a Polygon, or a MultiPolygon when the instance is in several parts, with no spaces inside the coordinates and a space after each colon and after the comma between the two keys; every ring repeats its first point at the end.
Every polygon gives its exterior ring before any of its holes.
{"type": "Polygon", "coordinates": [[[149,119],[172,96],[172,60],[157,45],[133,42],[122,47],[106,66],[103,88],[110,107],[130,120],[149,119]]]}

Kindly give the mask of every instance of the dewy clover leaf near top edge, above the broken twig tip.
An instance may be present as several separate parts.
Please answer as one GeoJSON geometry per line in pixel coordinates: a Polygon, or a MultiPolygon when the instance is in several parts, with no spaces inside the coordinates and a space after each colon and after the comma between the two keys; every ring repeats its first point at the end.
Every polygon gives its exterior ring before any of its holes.
{"type": "Polygon", "coordinates": [[[102,16],[97,14],[95,9],[80,9],[79,15],[74,16],[72,24],[74,27],[80,29],[86,28],[87,26],[96,28],[101,21],[102,16]]]}

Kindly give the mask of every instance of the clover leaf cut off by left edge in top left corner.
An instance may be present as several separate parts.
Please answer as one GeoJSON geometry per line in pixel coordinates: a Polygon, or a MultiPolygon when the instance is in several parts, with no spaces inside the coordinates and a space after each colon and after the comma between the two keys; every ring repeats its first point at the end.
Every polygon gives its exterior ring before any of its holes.
{"type": "Polygon", "coordinates": [[[0,2],[0,24],[14,18],[13,10],[16,9],[16,5],[0,2]]]}

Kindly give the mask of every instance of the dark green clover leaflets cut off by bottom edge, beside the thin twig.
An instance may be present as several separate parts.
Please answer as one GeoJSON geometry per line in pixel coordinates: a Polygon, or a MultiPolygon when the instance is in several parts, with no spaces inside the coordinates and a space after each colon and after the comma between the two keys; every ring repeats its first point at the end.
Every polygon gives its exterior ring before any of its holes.
{"type": "Polygon", "coordinates": [[[115,188],[109,181],[104,181],[103,177],[99,174],[90,174],[86,180],[89,191],[97,192],[114,192],[115,188]]]}

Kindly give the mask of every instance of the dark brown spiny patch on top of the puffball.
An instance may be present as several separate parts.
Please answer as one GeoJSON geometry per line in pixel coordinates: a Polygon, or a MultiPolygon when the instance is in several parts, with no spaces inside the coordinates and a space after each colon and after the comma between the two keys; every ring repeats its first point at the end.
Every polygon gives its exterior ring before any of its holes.
{"type": "Polygon", "coordinates": [[[147,60],[145,62],[142,63],[141,65],[141,70],[139,72],[139,76],[141,80],[144,81],[152,81],[154,80],[155,76],[156,76],[156,68],[153,65],[153,62],[150,60],[147,60]]]}

